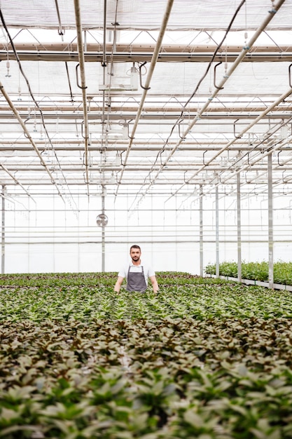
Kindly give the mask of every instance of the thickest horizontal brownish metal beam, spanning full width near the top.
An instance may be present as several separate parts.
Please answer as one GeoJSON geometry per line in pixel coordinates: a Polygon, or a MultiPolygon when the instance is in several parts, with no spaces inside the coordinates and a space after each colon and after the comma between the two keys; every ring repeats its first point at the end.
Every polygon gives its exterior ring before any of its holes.
{"type": "MultiPolygon", "coordinates": [[[[110,27],[110,26],[109,26],[110,27]]],[[[109,29],[109,28],[108,28],[109,29]]],[[[119,26],[122,30],[122,27],[119,26]]],[[[251,29],[250,29],[251,30],[251,29]]],[[[279,29],[278,29],[279,30],[279,29]]],[[[153,45],[127,45],[116,44],[116,50],[113,50],[113,44],[106,44],[106,51],[113,53],[114,62],[150,62],[153,45]]],[[[68,43],[50,43],[37,46],[32,43],[15,43],[16,50],[20,51],[19,59],[21,61],[47,61],[47,62],[76,62],[78,60],[77,46],[74,41],[68,43]],[[70,50],[68,50],[70,48],[70,50]]],[[[242,47],[229,46],[228,52],[224,55],[217,53],[214,62],[234,62],[237,54],[242,47]]],[[[216,50],[215,46],[168,46],[163,45],[163,52],[160,53],[158,62],[209,62],[211,55],[216,50]]],[[[104,57],[100,50],[99,43],[88,43],[84,54],[86,62],[109,62],[109,55],[104,57]]],[[[15,60],[13,50],[0,50],[0,60],[15,60]]],[[[243,62],[291,62],[291,46],[281,46],[281,54],[277,46],[259,46],[256,51],[249,53],[243,62]]]]}

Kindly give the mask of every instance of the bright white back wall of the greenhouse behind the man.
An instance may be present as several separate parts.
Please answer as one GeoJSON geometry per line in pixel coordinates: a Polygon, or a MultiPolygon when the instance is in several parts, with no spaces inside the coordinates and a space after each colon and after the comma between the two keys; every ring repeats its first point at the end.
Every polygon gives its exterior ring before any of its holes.
{"type": "MultiPolygon", "coordinates": [[[[173,197],[167,203],[150,197],[133,206],[134,197],[107,197],[105,270],[118,271],[128,258],[130,245],[139,244],[144,259],[156,271],[200,273],[199,203],[173,197]]],[[[275,200],[274,261],[291,261],[291,198],[275,200]]],[[[102,270],[102,228],[96,217],[101,197],[39,196],[36,203],[6,203],[6,273],[79,272],[102,270]]],[[[216,262],[214,196],[203,200],[204,266],[216,262]]],[[[220,262],[237,260],[235,196],[219,201],[220,262]]],[[[242,201],[242,260],[268,259],[267,201],[259,197],[242,201]]]]}

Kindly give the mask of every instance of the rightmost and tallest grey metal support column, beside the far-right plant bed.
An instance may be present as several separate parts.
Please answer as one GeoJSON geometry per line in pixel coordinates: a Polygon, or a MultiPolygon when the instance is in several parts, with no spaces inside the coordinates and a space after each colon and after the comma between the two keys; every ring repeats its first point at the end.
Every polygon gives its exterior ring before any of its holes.
{"type": "Polygon", "coordinates": [[[269,288],[274,287],[274,237],[273,237],[273,200],[272,200],[272,154],[267,156],[267,212],[269,240],[269,288]]]}

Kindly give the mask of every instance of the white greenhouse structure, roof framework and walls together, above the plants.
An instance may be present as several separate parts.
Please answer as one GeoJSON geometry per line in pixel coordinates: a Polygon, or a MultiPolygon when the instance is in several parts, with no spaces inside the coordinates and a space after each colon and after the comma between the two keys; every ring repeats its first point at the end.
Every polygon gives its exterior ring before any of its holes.
{"type": "Polygon", "coordinates": [[[1,272],[291,259],[291,1],[1,2],[1,272]]]}

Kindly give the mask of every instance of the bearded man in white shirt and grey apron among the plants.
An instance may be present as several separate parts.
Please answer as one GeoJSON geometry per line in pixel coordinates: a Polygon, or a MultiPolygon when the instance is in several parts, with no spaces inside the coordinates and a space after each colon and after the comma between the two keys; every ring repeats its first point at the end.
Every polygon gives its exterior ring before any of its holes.
{"type": "Polygon", "coordinates": [[[130,248],[130,265],[125,266],[118,273],[118,281],[114,288],[115,292],[120,292],[120,286],[124,278],[127,280],[127,291],[145,292],[148,286],[148,278],[151,280],[154,292],[158,292],[158,283],[155,271],[147,264],[141,263],[141,248],[139,245],[132,245],[130,248]]]}

